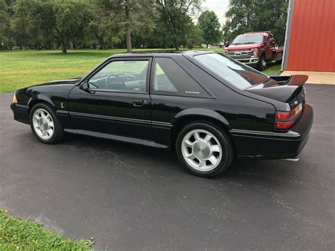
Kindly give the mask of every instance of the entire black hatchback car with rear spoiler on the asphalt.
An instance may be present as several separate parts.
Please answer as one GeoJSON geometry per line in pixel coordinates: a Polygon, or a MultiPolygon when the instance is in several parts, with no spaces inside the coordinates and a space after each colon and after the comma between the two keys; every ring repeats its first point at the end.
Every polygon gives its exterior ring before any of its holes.
{"type": "Polygon", "coordinates": [[[195,175],[235,156],[293,158],[313,110],[307,76],[271,76],[214,52],[114,55],[83,78],[16,91],[14,119],[43,143],[64,132],[175,148],[195,175]]]}

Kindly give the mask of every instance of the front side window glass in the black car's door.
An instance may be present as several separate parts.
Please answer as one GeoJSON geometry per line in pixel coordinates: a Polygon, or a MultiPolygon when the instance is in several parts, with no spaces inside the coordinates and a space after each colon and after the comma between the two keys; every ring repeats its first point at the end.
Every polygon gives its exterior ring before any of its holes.
{"type": "Polygon", "coordinates": [[[148,60],[110,62],[89,79],[90,89],[146,92],[148,64],[148,60]]]}

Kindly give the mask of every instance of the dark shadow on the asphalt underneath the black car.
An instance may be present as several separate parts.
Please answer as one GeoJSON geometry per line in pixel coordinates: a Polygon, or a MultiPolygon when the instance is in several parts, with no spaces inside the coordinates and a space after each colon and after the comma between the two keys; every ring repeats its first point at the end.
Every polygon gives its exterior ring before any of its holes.
{"type": "MultiPolygon", "coordinates": [[[[61,145],[66,145],[71,149],[76,148],[77,151],[81,151],[81,149],[83,151],[90,150],[92,153],[91,157],[99,156],[100,158],[98,158],[98,160],[102,160],[104,155],[108,158],[107,155],[112,153],[114,158],[122,160],[124,163],[128,163],[129,166],[136,165],[141,166],[143,169],[148,168],[146,172],[153,176],[158,172],[161,175],[182,175],[183,177],[184,175],[189,175],[189,178],[195,177],[183,168],[177,160],[177,156],[173,150],[170,151],[74,134],[67,135],[65,141],[62,142],[61,145]]],[[[103,163],[100,163],[100,165],[103,165],[103,163]]],[[[274,180],[288,181],[289,177],[295,176],[295,168],[293,168],[295,165],[298,165],[298,163],[284,160],[237,158],[223,175],[213,177],[211,180],[242,181],[245,179],[252,179],[263,184],[267,184],[274,180]]],[[[129,168],[127,172],[131,172],[131,168],[129,168]]],[[[161,177],[161,175],[159,176],[161,177]]],[[[205,178],[196,178],[206,180],[205,178]]]]}

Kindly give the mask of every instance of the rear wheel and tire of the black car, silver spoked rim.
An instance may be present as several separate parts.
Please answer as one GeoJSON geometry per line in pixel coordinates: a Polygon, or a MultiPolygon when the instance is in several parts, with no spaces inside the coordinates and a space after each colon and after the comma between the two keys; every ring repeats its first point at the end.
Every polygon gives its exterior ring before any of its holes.
{"type": "Polygon", "coordinates": [[[213,177],[222,174],[234,158],[233,144],[225,129],[212,122],[192,122],[177,136],[176,153],[192,174],[213,177]]]}

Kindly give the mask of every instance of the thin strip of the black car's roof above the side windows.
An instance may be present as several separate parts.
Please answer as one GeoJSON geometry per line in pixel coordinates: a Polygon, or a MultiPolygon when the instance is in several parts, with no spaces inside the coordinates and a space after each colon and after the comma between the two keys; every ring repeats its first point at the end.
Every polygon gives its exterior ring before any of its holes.
{"type": "Polygon", "coordinates": [[[142,52],[134,52],[134,53],[120,53],[114,54],[109,57],[180,57],[182,55],[187,56],[195,56],[199,54],[207,54],[207,53],[216,53],[213,51],[173,51],[173,50],[165,50],[165,51],[142,51],[142,52]]]}

